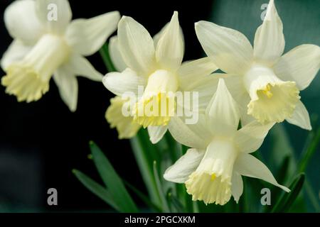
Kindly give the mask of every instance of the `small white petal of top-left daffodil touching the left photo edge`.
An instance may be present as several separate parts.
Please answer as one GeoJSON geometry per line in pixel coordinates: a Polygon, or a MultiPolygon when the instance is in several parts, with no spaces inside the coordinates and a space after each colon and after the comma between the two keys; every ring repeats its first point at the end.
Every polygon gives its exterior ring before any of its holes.
{"type": "Polygon", "coordinates": [[[31,46],[24,45],[21,40],[14,40],[1,58],[2,69],[6,70],[11,63],[22,60],[31,48],[31,46]]]}

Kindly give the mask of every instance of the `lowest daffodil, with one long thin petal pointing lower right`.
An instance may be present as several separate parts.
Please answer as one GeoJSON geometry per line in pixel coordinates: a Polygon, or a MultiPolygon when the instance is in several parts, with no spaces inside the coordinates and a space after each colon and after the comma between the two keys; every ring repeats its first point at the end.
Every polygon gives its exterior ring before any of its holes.
{"type": "Polygon", "coordinates": [[[186,125],[178,117],[171,119],[171,135],[191,149],[166,170],[164,178],[186,184],[193,200],[206,204],[223,205],[231,195],[238,203],[243,190],[241,175],[263,179],[289,192],[260,160],[250,155],[260,148],[274,123],[252,121],[237,130],[239,121],[238,105],[220,79],[198,124],[186,125]]]}

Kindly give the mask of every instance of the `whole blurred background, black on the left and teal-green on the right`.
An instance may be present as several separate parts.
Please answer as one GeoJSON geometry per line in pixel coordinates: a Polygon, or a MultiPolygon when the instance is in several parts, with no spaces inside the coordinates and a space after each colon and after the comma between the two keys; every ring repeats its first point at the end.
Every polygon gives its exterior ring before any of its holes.
{"type": "MultiPolygon", "coordinates": [[[[0,1],[0,55],[12,40],[3,21],[4,10],[11,2],[0,1]]],[[[170,20],[173,11],[178,11],[186,41],[184,60],[203,56],[194,22],[213,21],[241,31],[252,42],[256,28],[262,23],[261,13],[267,9],[263,5],[267,3],[267,0],[157,1],[149,4],[121,0],[70,0],[73,18],[90,18],[117,10],[142,23],[151,35],[170,20]]],[[[320,0],[276,0],[275,4],[284,24],[285,52],[303,43],[320,45],[320,0]]],[[[88,59],[98,71],[107,72],[99,53],[88,59]]],[[[113,94],[98,82],[81,77],[78,82],[78,110],[75,113],[71,113],[60,99],[53,81],[49,92],[31,104],[18,103],[0,86],[0,212],[108,209],[71,172],[77,168],[101,182],[92,160],[87,158],[90,140],[104,150],[119,175],[146,191],[129,140],[118,140],[117,132],[110,129],[105,120],[105,111],[113,94]],[[58,206],[47,204],[47,190],[52,187],[58,190],[58,206]]],[[[314,123],[319,124],[319,118],[316,118],[320,114],[319,74],[301,96],[314,123]]],[[[282,162],[280,156],[289,154],[299,160],[307,136],[307,131],[288,123],[272,129],[262,147],[262,155],[272,172],[277,171],[279,162],[282,162]]],[[[318,148],[306,170],[318,202],[319,161],[318,148]]],[[[305,206],[306,211],[312,211],[308,209],[310,204],[305,206]]]]}

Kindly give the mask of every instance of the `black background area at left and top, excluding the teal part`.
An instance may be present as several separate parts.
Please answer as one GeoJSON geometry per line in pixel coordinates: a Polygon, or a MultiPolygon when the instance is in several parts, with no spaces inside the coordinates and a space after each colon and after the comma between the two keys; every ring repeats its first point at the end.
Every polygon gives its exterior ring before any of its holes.
{"type": "MultiPolygon", "coordinates": [[[[12,1],[0,0],[0,55],[11,38],[4,27],[3,13],[12,1]]],[[[184,60],[201,57],[202,49],[193,23],[209,18],[213,1],[75,1],[70,0],[73,18],[91,18],[118,10],[132,16],[156,34],[179,13],[185,33],[184,60]]],[[[88,58],[103,74],[107,72],[99,53],[88,58]]],[[[0,70],[1,74],[4,72],[0,70]]],[[[78,110],[71,113],[60,99],[53,80],[40,101],[18,103],[0,86],[0,211],[101,211],[108,206],[87,191],[73,176],[77,168],[100,182],[91,160],[88,142],[94,140],[105,151],[124,179],[139,189],[144,184],[128,140],[118,140],[117,132],[105,121],[105,111],[113,96],[102,83],[78,78],[78,110]],[[47,205],[47,190],[58,190],[58,206],[47,205]]]]}

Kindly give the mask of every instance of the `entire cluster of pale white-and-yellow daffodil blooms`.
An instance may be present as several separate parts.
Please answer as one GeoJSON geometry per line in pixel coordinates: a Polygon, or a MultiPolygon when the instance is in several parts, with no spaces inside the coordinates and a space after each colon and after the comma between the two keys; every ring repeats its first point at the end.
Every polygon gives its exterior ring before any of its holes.
{"type": "Polygon", "coordinates": [[[60,9],[58,21],[48,21],[45,0],[16,1],[6,9],[6,27],[14,38],[1,60],[6,72],[1,83],[7,93],[18,101],[36,101],[53,77],[63,101],[75,111],[75,75],[102,81],[115,95],[105,117],[119,138],[132,138],[143,127],[152,143],[169,131],[188,146],[164,172],[164,179],[185,184],[193,200],[223,205],[233,196],[238,202],[241,176],[263,179],[289,192],[251,153],[275,123],[285,120],[311,130],[300,91],[319,71],[320,48],[299,45],[283,55],[282,21],[273,0],[253,47],[238,31],[199,21],[196,35],[208,57],[186,62],[176,11],[151,37],[134,18],[120,19],[118,12],[70,21],[68,1],[52,2],[60,9]],[[116,26],[109,50],[117,72],[102,79],[83,56],[97,52],[116,26]],[[181,94],[196,96],[178,101],[181,94]],[[186,113],[195,114],[197,121],[188,122],[186,113]]]}

